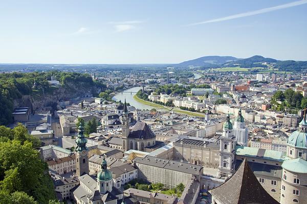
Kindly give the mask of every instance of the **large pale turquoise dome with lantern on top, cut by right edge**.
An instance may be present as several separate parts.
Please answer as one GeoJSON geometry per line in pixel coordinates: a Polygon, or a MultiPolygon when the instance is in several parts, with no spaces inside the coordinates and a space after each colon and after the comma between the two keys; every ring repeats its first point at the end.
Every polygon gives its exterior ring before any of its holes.
{"type": "Polygon", "coordinates": [[[305,148],[307,149],[307,122],[306,122],[306,111],[304,111],[304,117],[302,121],[299,123],[299,130],[293,132],[287,141],[287,145],[305,148]]]}

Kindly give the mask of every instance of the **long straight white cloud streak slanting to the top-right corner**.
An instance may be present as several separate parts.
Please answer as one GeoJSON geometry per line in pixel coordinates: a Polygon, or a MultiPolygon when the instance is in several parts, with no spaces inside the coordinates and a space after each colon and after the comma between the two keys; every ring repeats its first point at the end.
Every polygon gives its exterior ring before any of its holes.
{"type": "Polygon", "coordinates": [[[220,21],[225,21],[225,20],[231,20],[231,19],[235,19],[235,18],[243,18],[243,17],[246,17],[246,16],[253,16],[253,15],[257,15],[257,14],[261,14],[261,13],[268,13],[268,12],[276,11],[276,10],[280,10],[280,9],[287,9],[287,8],[299,6],[299,5],[302,5],[302,4],[307,4],[307,0],[301,0],[301,1],[297,1],[297,2],[282,4],[282,5],[275,6],[275,7],[269,7],[269,8],[259,9],[259,10],[255,10],[255,11],[249,11],[249,12],[245,12],[245,13],[239,13],[239,14],[235,14],[235,15],[231,15],[231,16],[222,17],[222,18],[215,18],[215,19],[211,19],[211,20],[195,22],[195,23],[191,23],[189,25],[199,25],[199,24],[206,24],[206,23],[211,23],[211,22],[220,22],[220,21]]]}

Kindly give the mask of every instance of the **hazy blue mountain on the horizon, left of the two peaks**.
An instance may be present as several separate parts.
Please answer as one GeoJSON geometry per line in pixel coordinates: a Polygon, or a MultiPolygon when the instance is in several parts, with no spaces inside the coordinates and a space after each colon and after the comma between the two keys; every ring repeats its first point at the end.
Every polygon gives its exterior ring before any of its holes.
{"type": "Polygon", "coordinates": [[[173,64],[174,67],[201,66],[201,67],[217,67],[227,62],[239,60],[231,56],[206,56],[194,60],[185,61],[179,64],[173,64]]]}

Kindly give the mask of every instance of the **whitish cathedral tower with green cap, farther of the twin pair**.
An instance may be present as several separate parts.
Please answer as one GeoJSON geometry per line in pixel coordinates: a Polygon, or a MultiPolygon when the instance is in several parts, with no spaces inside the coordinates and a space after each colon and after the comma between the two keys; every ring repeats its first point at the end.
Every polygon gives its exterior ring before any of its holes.
{"type": "Polygon", "coordinates": [[[234,120],[233,133],[238,145],[247,146],[248,128],[245,126],[241,109],[238,112],[238,116],[234,120]]]}

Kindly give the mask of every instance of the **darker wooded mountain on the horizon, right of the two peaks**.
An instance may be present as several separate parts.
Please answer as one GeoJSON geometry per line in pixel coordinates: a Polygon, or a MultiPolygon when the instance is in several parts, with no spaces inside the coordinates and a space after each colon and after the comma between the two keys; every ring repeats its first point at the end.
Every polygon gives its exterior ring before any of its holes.
{"type": "Polygon", "coordinates": [[[224,63],[223,67],[244,67],[244,68],[251,68],[251,67],[267,67],[266,65],[262,65],[262,63],[276,63],[277,60],[272,58],[264,58],[259,55],[255,55],[250,58],[236,60],[232,62],[224,63]]]}

